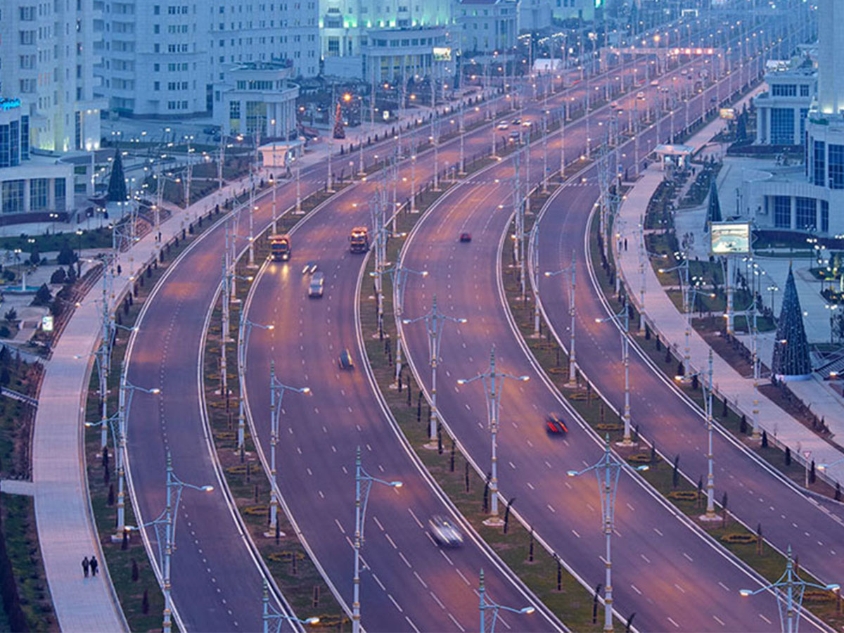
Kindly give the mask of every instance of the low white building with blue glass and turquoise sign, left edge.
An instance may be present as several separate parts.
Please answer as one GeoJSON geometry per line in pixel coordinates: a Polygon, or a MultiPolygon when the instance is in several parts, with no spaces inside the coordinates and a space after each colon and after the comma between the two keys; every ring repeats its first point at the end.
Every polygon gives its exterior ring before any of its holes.
{"type": "Polygon", "coordinates": [[[0,100],[0,224],[63,218],[73,204],[73,167],[34,157],[30,125],[19,100],[0,100]]]}

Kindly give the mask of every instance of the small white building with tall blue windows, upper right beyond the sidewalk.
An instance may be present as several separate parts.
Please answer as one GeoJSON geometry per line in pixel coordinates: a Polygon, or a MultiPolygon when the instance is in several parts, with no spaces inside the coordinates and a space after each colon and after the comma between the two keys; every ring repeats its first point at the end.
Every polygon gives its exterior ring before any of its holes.
{"type": "Polygon", "coordinates": [[[765,82],[768,89],[753,100],[756,107],[756,143],[803,144],[806,116],[817,92],[814,65],[809,60],[774,63],[765,74],[765,82]]]}

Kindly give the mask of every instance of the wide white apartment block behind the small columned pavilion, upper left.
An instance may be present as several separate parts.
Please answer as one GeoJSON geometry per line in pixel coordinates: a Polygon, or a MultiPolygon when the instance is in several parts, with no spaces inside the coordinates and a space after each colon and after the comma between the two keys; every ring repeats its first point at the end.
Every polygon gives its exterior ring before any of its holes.
{"type": "Polygon", "coordinates": [[[102,92],[127,116],[204,116],[225,70],[319,73],[317,0],[100,0],[102,92]]]}

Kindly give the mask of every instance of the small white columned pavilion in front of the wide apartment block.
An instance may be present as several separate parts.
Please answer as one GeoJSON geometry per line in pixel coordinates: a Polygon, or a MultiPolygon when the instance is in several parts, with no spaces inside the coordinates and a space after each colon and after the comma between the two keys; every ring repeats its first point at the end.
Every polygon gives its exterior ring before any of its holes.
{"type": "Polygon", "coordinates": [[[214,86],[214,120],[224,134],[258,134],[287,140],[296,132],[299,85],[286,61],[249,62],[227,68],[214,86]]]}

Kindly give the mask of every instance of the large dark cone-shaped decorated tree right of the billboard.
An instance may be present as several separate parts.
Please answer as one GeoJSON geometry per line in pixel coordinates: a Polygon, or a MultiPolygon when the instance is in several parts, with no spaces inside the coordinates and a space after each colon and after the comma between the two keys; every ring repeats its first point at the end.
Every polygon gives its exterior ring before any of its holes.
{"type": "Polygon", "coordinates": [[[786,289],[782,295],[782,310],[776,324],[771,371],[780,380],[800,380],[812,373],[809,342],[803,328],[803,311],[800,309],[800,299],[791,268],[788,268],[786,289]]]}

